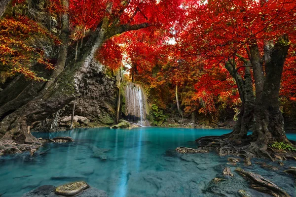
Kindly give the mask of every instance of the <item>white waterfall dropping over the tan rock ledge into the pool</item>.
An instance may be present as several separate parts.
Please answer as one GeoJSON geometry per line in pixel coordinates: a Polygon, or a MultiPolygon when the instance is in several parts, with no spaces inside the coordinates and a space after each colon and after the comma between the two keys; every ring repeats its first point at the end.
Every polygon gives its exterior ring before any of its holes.
{"type": "Polygon", "coordinates": [[[148,104],[142,86],[128,82],[125,89],[125,117],[141,126],[150,126],[146,115],[148,104]]]}

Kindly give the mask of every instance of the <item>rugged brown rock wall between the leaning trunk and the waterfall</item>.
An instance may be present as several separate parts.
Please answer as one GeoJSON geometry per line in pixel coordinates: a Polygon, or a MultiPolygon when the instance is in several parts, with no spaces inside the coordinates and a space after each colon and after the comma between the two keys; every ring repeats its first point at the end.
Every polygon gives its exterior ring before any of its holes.
{"type": "MultiPolygon", "coordinates": [[[[74,115],[86,117],[89,121],[75,124],[75,127],[100,127],[114,123],[117,104],[116,76],[108,74],[105,66],[93,61],[87,77],[81,84],[81,97],[76,99],[74,115]]],[[[61,119],[72,114],[74,101],[61,114],[61,119]]],[[[68,123],[69,125],[69,123],[68,123]]],[[[60,126],[65,126],[60,123],[60,126]]]]}

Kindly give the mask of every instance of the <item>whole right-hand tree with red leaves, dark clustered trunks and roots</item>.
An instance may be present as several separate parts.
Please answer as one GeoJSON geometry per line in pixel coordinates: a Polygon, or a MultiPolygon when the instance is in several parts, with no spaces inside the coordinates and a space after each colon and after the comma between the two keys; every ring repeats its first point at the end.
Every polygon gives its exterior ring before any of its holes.
{"type": "Polygon", "coordinates": [[[193,0],[185,9],[188,17],[178,29],[183,56],[202,58],[207,69],[223,65],[242,101],[231,133],[197,141],[218,147],[220,155],[277,157],[269,145],[291,144],[284,131],[279,93],[283,68],[295,53],[295,1],[193,0]],[[253,134],[247,136],[252,125],[253,134]]]}

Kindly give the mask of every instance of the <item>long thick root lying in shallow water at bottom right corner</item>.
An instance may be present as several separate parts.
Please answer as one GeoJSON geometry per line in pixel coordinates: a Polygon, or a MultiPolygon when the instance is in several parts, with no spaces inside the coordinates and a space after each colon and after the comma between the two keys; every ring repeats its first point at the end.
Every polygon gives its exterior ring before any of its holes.
{"type": "Polygon", "coordinates": [[[259,174],[255,174],[253,172],[245,171],[241,168],[236,168],[239,174],[247,177],[251,182],[251,187],[260,192],[268,193],[273,195],[274,197],[291,197],[286,191],[272,183],[271,181],[263,178],[259,174]]]}

